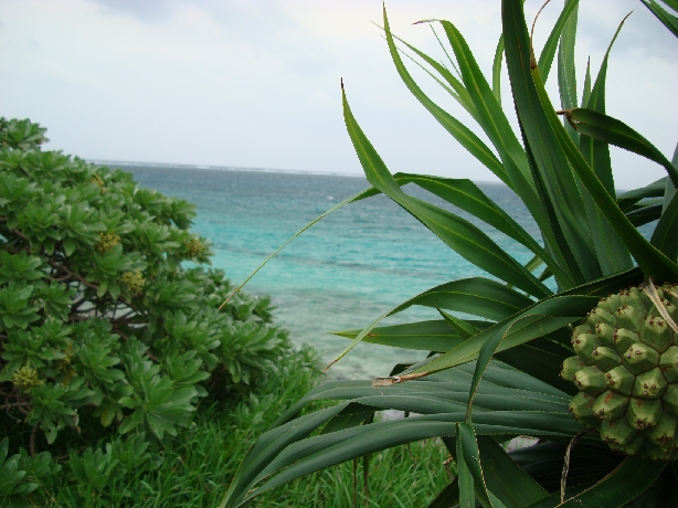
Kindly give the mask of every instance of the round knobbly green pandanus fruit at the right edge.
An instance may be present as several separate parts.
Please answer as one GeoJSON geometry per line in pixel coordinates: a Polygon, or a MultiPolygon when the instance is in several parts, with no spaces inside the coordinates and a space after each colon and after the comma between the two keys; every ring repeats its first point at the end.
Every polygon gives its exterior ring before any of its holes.
{"type": "Polygon", "coordinates": [[[570,412],[611,448],[678,458],[678,285],[602,299],[572,335],[561,377],[579,388],[570,412]],[[672,321],[672,322],[671,322],[672,321]]]}

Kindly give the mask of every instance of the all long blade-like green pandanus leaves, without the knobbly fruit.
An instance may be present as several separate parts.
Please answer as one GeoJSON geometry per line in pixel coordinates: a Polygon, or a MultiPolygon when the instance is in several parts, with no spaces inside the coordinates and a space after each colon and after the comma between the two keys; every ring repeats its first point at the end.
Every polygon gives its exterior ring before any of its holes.
{"type": "MultiPolygon", "coordinates": [[[[443,284],[394,307],[362,330],[340,332],[352,339],[345,353],[363,338],[410,349],[445,352],[415,366],[400,366],[391,378],[382,378],[375,384],[335,380],[314,389],[283,414],[250,451],[222,506],[242,506],[257,494],[301,475],[391,446],[436,436],[443,437],[451,453],[456,455],[459,476],[439,493],[431,506],[459,502],[470,508],[476,498],[484,506],[494,507],[560,504],[560,491],[548,494],[530,477],[532,473],[521,469],[519,465],[523,464],[515,463],[491,436],[528,434],[568,443],[583,431],[584,427],[568,411],[573,385],[560,390],[562,380],[554,379],[559,369],[551,363],[562,363],[572,356],[566,345],[571,329],[568,325],[581,321],[600,297],[637,285],[647,275],[659,279],[678,275],[675,255],[666,255],[674,252],[667,246],[670,242],[668,232],[672,229],[674,207],[678,207],[678,201],[674,202],[676,199],[666,180],[617,199],[606,151],[610,139],[596,138],[598,134],[594,133],[597,131],[584,131],[586,127],[582,127],[580,135],[563,126],[555,115],[543,89],[542,77],[545,80],[554,57],[554,41],[560,39],[559,82],[563,106],[566,105],[565,109],[576,106],[573,64],[576,1],[565,3],[542,52],[541,68],[531,57],[522,2],[504,0],[502,3],[506,57],[522,145],[510,129],[500,106],[500,50],[495,55],[490,87],[452,23],[442,22],[442,25],[454,50],[459,78],[407,45],[442,76],[439,83],[448,86],[457,100],[466,102],[465,107],[474,112],[472,116],[489,137],[498,157],[414,83],[395,47],[385,12],[384,31],[396,70],[406,86],[457,140],[520,194],[542,229],[545,246],[530,239],[522,227],[468,181],[391,176],[360,130],[343,95],[347,128],[373,184],[372,189],[351,200],[383,192],[462,255],[470,256],[473,247],[472,261],[507,284],[483,277],[443,284]],[[517,240],[536,254],[533,263],[527,267],[516,266],[508,254],[467,221],[403,192],[401,187],[407,182],[436,193],[517,240]],[[589,202],[587,195],[591,197],[589,202]],[[648,198],[661,197],[665,198],[661,203],[647,201],[648,198]],[[589,214],[584,204],[589,207],[589,214]],[[656,205],[660,208],[659,213],[664,211],[666,219],[663,218],[664,223],[657,226],[657,240],[653,237],[653,245],[640,236],[631,219],[640,222],[651,216],[656,213],[656,205]],[[589,227],[591,212],[598,213],[593,229],[589,227]],[[634,213],[637,215],[635,219],[634,213]],[[603,253],[610,254],[616,242],[614,239],[624,239],[623,248],[618,257],[613,256],[607,262],[603,253]],[[624,245],[628,246],[639,266],[631,266],[624,245]],[[555,275],[561,292],[558,295],[552,295],[531,274],[540,262],[555,275]],[[384,317],[412,305],[436,308],[444,320],[377,328],[384,317]],[[486,321],[460,318],[446,310],[469,314],[486,321]],[[549,374],[547,370],[553,373],[549,374]],[[419,379],[410,375],[417,373],[426,375],[419,379]],[[406,379],[413,380],[402,382],[406,379]],[[293,420],[308,403],[320,400],[347,402],[293,420]],[[398,409],[415,415],[372,423],[371,415],[381,409],[398,409]],[[312,435],[320,428],[320,434],[312,435]]],[[[582,104],[590,109],[568,112],[573,118],[574,115],[583,115],[581,118],[602,115],[608,123],[603,103],[605,65],[606,60],[592,89],[587,72],[589,85],[584,86],[582,104]]],[[[579,121],[578,126],[583,120],[579,121]]],[[[618,129],[614,133],[616,136],[618,129]]],[[[658,158],[640,138],[624,133],[627,135],[624,139],[632,139],[640,146],[639,150],[658,158]]],[[[667,170],[671,172],[670,167],[667,170]]],[[[601,348],[603,351],[605,346],[601,348]]],[[[615,358],[615,354],[611,349],[610,358],[615,358]]],[[[579,371],[587,368],[596,369],[585,367],[579,371]]],[[[580,399],[586,396],[582,393],[580,399]]],[[[544,455],[541,453],[543,446],[537,446],[539,453],[531,453],[534,457],[528,465],[544,456],[553,465],[558,452],[562,466],[562,449],[550,449],[544,455]]],[[[607,449],[596,435],[585,435],[578,446],[586,451],[607,449]]],[[[529,454],[523,453],[523,459],[529,454]]],[[[618,463],[615,461],[619,459],[607,459],[603,473],[590,464],[575,467],[573,470],[581,473],[584,479],[576,484],[579,494],[562,506],[625,505],[653,485],[665,467],[661,463],[628,457],[610,473],[618,463]],[[586,481],[597,483],[581,491],[589,485],[586,481]]],[[[558,474],[557,466],[551,469],[558,474]]],[[[549,488],[549,491],[553,489],[549,488]]]]}

